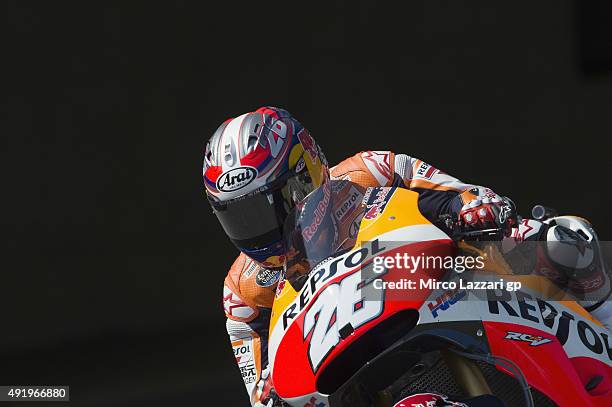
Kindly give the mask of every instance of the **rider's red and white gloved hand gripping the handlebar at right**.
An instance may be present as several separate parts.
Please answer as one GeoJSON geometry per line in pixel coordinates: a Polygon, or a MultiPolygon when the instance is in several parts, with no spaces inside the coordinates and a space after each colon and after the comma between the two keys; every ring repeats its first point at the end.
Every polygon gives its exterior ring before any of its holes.
{"type": "Polygon", "coordinates": [[[469,194],[464,194],[464,199],[467,202],[459,212],[459,223],[465,228],[501,228],[505,234],[510,233],[514,225],[514,210],[509,199],[502,198],[488,188],[469,191],[469,194]]]}

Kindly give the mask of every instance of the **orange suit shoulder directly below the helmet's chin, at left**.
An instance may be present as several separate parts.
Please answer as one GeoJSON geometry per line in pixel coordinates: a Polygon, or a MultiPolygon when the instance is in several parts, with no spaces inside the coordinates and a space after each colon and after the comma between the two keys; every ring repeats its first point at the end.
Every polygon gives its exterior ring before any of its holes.
{"type": "Polygon", "coordinates": [[[248,322],[259,308],[271,308],[280,270],[271,270],[240,253],[223,284],[223,308],[228,318],[248,322]]]}

